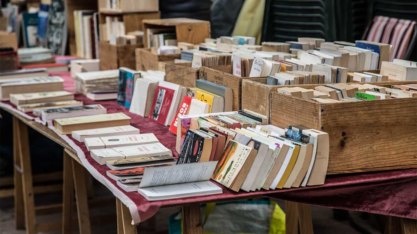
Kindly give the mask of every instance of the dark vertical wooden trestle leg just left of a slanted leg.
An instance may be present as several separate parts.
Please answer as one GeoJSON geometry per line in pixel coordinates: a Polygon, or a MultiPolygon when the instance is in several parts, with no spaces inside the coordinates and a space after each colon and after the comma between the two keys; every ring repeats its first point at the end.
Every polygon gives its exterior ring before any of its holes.
{"type": "Polygon", "coordinates": [[[63,188],[62,188],[62,233],[73,233],[73,201],[74,201],[74,180],[73,180],[73,159],[65,153],[63,157],[63,188]]]}

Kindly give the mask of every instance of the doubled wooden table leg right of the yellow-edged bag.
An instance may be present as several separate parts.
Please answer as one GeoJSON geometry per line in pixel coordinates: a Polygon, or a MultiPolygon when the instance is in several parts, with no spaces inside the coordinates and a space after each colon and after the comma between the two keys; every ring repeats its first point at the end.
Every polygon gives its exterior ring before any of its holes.
{"type": "Polygon", "coordinates": [[[310,205],[285,201],[285,233],[313,234],[310,205]]]}

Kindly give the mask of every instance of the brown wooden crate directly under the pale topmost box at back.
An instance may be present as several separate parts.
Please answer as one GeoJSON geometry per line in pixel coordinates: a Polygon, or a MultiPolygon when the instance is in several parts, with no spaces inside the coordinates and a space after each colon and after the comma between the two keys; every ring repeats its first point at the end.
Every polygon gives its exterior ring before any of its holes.
{"type": "Polygon", "coordinates": [[[117,11],[100,11],[99,22],[100,24],[106,23],[106,16],[119,16],[123,20],[125,25],[125,32],[140,30],[143,31],[143,20],[159,19],[161,18],[161,12],[117,12],[117,11]]]}

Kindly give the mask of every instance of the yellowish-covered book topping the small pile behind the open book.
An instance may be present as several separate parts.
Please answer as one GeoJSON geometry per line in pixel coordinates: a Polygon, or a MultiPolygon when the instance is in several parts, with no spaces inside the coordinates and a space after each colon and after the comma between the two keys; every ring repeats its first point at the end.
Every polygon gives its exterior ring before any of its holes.
{"type": "MultiPolygon", "coordinates": [[[[101,149],[101,151],[108,151],[108,149],[101,149]]],[[[171,151],[170,151],[171,152],[171,151]]],[[[96,153],[96,152],[95,152],[96,153]]],[[[103,154],[99,154],[98,157],[103,158],[103,154]]],[[[108,157],[107,157],[108,158],[108,157]]],[[[103,159],[100,159],[103,160],[103,159]]],[[[138,156],[135,158],[126,158],[118,160],[107,160],[106,166],[111,170],[125,170],[135,167],[149,167],[166,164],[176,164],[176,158],[172,154],[161,154],[151,156],[138,156]]]]}

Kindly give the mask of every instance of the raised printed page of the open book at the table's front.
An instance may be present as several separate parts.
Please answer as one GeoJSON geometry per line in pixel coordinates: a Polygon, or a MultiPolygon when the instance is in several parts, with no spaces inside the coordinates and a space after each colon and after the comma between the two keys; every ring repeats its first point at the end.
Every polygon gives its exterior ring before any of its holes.
{"type": "Polygon", "coordinates": [[[140,188],[210,180],[217,161],[187,163],[166,167],[147,167],[140,188]]]}

